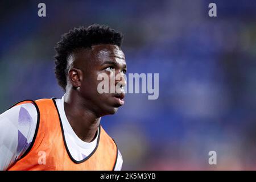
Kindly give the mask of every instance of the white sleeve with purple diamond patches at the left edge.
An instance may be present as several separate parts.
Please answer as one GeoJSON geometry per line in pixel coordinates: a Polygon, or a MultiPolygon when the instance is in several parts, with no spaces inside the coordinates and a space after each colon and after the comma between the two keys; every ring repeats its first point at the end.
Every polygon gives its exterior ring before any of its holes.
{"type": "Polygon", "coordinates": [[[6,170],[26,152],[36,130],[34,104],[14,106],[0,115],[0,171],[6,170]]]}

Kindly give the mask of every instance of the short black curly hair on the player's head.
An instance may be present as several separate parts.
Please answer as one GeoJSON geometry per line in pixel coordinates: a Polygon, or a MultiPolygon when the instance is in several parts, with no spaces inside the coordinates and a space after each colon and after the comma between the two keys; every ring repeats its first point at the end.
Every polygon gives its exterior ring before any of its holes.
{"type": "Polygon", "coordinates": [[[123,35],[112,28],[92,24],[89,27],[73,28],[61,36],[55,47],[55,76],[58,84],[65,91],[67,85],[67,59],[74,51],[80,48],[91,48],[98,44],[113,44],[121,47],[123,35]]]}

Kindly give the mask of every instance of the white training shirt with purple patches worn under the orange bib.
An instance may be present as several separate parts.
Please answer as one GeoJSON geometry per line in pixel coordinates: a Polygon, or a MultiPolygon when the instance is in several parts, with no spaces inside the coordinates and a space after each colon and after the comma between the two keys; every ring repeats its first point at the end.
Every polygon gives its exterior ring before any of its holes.
{"type": "MultiPolygon", "coordinates": [[[[97,146],[98,130],[97,137],[92,142],[82,141],[73,131],[65,115],[64,96],[55,101],[72,158],[77,161],[85,159],[97,146]]],[[[6,170],[26,152],[35,135],[37,118],[38,113],[32,103],[14,106],[0,115],[0,170],[6,170]]],[[[114,170],[121,170],[122,163],[122,155],[118,150],[114,170]]]]}

